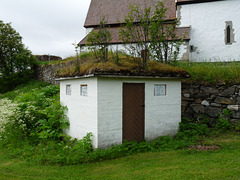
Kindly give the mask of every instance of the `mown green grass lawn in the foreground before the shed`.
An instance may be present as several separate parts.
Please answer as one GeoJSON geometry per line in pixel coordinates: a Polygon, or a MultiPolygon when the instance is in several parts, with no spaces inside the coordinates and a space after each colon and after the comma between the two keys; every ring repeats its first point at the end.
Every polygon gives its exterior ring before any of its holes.
{"type": "Polygon", "coordinates": [[[72,166],[40,165],[12,159],[0,150],[0,179],[240,179],[240,133],[205,138],[213,151],[141,153],[72,166]]]}

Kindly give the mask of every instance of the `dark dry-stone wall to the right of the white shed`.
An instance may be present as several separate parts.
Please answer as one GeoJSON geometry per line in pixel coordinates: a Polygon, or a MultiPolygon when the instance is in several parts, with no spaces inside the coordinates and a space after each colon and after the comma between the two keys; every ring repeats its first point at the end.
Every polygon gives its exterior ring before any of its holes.
{"type": "Polygon", "coordinates": [[[226,86],[182,83],[182,116],[215,121],[224,109],[232,111],[231,121],[240,122],[240,85],[226,86]]]}

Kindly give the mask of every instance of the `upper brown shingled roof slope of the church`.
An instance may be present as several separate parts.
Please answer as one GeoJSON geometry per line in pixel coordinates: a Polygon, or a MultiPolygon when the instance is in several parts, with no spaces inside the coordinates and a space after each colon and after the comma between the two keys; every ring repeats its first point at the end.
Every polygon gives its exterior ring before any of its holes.
{"type": "MultiPolygon", "coordinates": [[[[167,11],[167,19],[176,18],[175,0],[163,0],[167,11]]],[[[129,5],[135,4],[141,9],[154,8],[159,0],[92,0],[88,10],[84,27],[96,27],[100,24],[102,17],[105,17],[109,25],[120,24],[129,13],[129,5]]]]}

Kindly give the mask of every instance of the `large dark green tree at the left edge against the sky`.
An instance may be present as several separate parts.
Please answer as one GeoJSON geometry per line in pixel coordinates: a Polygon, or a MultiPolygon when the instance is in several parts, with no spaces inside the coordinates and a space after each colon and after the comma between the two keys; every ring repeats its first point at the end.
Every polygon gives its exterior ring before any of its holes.
{"type": "Polygon", "coordinates": [[[10,23],[0,20],[0,92],[32,78],[36,59],[10,23]]]}

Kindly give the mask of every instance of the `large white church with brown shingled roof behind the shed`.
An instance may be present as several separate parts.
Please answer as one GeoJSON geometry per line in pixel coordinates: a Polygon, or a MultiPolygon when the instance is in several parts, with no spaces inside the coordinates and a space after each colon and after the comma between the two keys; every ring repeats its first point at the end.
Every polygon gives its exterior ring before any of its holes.
{"type": "MultiPolygon", "coordinates": [[[[163,0],[167,21],[178,18],[177,34],[184,34],[179,59],[189,62],[240,61],[240,0],[163,0]]],[[[118,31],[129,5],[154,8],[158,0],[91,0],[84,27],[98,29],[108,19],[112,46],[121,45],[118,31]]],[[[85,46],[87,36],[80,41],[85,46]]],[[[120,46],[121,47],[121,46],[120,46]]]]}

